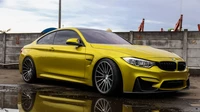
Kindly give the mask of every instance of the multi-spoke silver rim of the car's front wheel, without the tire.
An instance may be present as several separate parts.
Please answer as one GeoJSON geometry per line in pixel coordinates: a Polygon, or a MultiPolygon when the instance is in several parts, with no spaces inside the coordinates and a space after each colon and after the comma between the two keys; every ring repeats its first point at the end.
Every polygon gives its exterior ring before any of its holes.
{"type": "Polygon", "coordinates": [[[101,93],[107,93],[113,86],[113,69],[107,61],[100,62],[95,70],[95,84],[101,93]]]}

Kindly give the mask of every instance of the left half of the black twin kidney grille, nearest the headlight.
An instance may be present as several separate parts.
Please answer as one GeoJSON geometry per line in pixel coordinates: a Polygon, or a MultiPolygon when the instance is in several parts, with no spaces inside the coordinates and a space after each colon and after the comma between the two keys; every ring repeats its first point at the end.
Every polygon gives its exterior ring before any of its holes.
{"type": "Polygon", "coordinates": [[[166,71],[175,71],[176,70],[176,63],[175,62],[157,62],[156,65],[162,69],[162,70],[166,70],[166,71]]]}

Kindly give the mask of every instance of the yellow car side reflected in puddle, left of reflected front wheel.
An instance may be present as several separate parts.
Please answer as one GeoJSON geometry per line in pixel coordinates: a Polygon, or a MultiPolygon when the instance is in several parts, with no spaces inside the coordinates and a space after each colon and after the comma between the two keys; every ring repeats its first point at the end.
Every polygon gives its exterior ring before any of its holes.
{"type": "MultiPolygon", "coordinates": [[[[22,102],[22,94],[19,94],[18,108],[24,112],[23,104],[30,105],[30,102],[22,102]]],[[[31,97],[31,96],[30,96],[31,97]]],[[[91,112],[92,101],[73,98],[62,98],[42,95],[39,92],[31,97],[33,102],[29,112],[91,112]]],[[[27,107],[27,106],[26,106],[27,107]]]]}

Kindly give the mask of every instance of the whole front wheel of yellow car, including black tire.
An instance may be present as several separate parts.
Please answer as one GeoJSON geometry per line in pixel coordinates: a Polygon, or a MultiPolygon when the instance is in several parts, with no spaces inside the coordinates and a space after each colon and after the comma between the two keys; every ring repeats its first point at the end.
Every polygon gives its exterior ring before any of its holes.
{"type": "Polygon", "coordinates": [[[121,93],[121,72],[117,64],[110,59],[102,59],[97,63],[93,72],[93,81],[101,94],[121,93]]]}

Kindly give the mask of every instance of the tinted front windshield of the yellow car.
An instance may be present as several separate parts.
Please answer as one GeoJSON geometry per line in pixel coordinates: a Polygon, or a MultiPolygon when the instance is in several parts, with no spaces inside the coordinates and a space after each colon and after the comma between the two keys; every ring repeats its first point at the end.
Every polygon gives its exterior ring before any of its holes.
{"type": "Polygon", "coordinates": [[[130,44],[115,33],[103,30],[80,29],[81,33],[89,43],[97,44],[130,44]]]}

